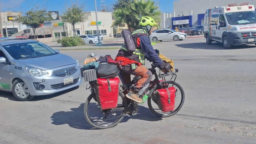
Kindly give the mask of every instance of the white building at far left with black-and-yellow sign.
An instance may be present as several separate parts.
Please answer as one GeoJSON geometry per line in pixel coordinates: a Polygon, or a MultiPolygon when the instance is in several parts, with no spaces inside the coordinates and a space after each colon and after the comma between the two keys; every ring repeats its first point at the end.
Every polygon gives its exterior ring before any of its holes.
{"type": "Polygon", "coordinates": [[[19,31],[26,29],[26,25],[20,24],[16,20],[19,16],[21,16],[21,12],[1,12],[4,37],[10,37],[19,31]]]}

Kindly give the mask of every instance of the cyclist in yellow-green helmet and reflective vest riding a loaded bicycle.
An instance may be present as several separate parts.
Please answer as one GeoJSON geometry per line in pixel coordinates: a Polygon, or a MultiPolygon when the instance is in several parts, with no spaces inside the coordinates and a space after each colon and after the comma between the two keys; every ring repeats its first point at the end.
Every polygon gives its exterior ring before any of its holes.
{"type": "Polygon", "coordinates": [[[124,78],[125,84],[131,82],[131,75],[141,77],[131,90],[125,95],[127,98],[142,103],[142,99],[138,97],[137,93],[148,84],[152,78],[152,73],[143,65],[145,64],[145,57],[147,60],[153,61],[160,66],[160,68],[170,71],[172,68],[169,63],[165,63],[153,49],[149,35],[153,32],[157,23],[149,16],[142,16],[139,20],[139,29],[132,33],[136,50],[129,53],[126,46],[122,45],[118,51],[115,61],[121,61],[121,74],[124,78]]]}

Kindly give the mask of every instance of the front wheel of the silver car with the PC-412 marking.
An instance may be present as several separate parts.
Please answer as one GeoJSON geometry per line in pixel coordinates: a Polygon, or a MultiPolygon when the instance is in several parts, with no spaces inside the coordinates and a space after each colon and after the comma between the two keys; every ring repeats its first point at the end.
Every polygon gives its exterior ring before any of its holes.
{"type": "Polygon", "coordinates": [[[35,97],[33,95],[30,95],[28,87],[21,79],[14,81],[12,91],[13,96],[18,101],[29,101],[35,97]]]}

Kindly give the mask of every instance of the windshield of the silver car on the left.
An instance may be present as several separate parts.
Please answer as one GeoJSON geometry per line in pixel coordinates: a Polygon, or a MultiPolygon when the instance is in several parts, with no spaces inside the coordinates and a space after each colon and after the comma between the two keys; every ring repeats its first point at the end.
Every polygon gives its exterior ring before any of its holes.
{"type": "Polygon", "coordinates": [[[16,60],[50,56],[56,53],[53,49],[40,42],[4,45],[4,49],[16,60]]]}

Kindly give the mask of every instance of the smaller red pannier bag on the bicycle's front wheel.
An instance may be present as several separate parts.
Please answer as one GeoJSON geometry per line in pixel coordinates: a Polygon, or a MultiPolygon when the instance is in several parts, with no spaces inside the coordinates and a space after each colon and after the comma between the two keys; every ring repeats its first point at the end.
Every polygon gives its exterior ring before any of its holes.
{"type": "Polygon", "coordinates": [[[174,110],[175,93],[176,89],[174,87],[163,88],[154,92],[157,105],[164,113],[174,110]]]}

